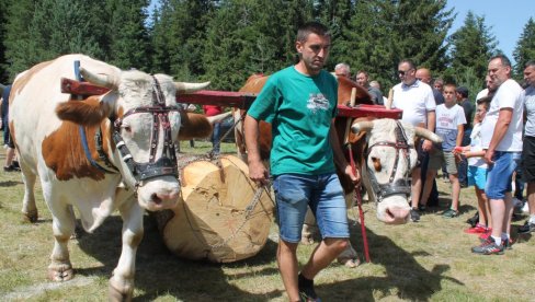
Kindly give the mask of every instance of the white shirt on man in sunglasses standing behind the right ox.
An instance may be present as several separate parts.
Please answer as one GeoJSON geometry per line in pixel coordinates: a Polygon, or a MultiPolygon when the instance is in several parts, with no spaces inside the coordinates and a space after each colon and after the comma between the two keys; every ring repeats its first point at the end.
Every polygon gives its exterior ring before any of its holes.
{"type": "Polygon", "coordinates": [[[421,126],[419,124],[426,126],[428,112],[436,108],[431,86],[417,80],[410,86],[399,83],[392,88],[392,91],[391,107],[403,111],[401,120],[413,126],[421,126]]]}

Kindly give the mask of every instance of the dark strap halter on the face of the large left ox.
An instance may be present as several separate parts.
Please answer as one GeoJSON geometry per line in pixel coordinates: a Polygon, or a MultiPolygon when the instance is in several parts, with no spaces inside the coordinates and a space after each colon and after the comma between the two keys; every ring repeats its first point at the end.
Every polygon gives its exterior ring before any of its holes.
{"type": "Polygon", "coordinates": [[[171,124],[169,123],[170,112],[180,112],[178,106],[166,106],[166,98],[160,88],[160,83],[152,76],[155,80],[155,90],[152,91],[152,105],[151,106],[139,106],[127,111],[122,117],[117,118],[113,125],[113,141],[117,146],[117,149],[123,158],[123,161],[128,166],[134,178],[136,178],[136,187],[140,186],[140,182],[163,176],[172,175],[178,177],[178,164],[177,164],[177,153],[174,151],[174,143],[171,137],[171,124]],[[137,163],[130,154],[130,151],[126,147],[123,138],[121,137],[119,130],[121,125],[125,117],[139,114],[149,113],[152,114],[152,132],[150,136],[150,155],[149,162],[137,163]],[[163,150],[161,158],[156,161],[156,152],[159,143],[160,126],[163,129],[163,150]]]}

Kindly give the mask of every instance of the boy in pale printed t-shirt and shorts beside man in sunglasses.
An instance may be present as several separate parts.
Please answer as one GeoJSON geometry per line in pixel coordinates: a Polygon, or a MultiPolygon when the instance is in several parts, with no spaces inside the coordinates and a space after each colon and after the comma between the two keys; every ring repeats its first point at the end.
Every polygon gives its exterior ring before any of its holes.
{"type": "Polygon", "coordinates": [[[459,206],[460,186],[457,178],[457,164],[455,159],[455,151],[460,147],[463,141],[463,130],[466,124],[465,113],[463,107],[457,105],[455,97],[455,85],[446,84],[444,86],[444,104],[436,106],[436,126],[435,132],[443,140],[442,144],[435,144],[433,150],[429,152],[429,167],[423,186],[422,204],[425,206],[429,195],[431,193],[432,181],[436,176],[436,171],[445,163],[449,182],[452,183],[452,205],[449,209],[444,211],[442,217],[454,218],[457,217],[459,206]]]}

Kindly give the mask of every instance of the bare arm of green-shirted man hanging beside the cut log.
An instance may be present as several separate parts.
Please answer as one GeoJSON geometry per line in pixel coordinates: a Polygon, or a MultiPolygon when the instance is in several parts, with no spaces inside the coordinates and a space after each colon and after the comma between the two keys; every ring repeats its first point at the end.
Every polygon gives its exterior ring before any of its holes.
{"type": "Polygon", "coordinates": [[[268,170],[262,163],[259,148],[259,120],[247,115],[243,123],[243,131],[246,136],[249,177],[261,185],[266,184],[269,177],[268,170]]]}

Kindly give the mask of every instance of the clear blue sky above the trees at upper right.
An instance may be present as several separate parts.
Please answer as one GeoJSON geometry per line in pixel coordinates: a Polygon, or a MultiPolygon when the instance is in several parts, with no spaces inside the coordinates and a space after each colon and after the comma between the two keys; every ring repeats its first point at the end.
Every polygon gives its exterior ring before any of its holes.
{"type": "Polygon", "coordinates": [[[498,48],[514,61],[513,50],[530,18],[535,21],[535,0],[448,0],[446,8],[454,9],[457,18],[448,34],[465,23],[471,11],[485,16],[485,24],[498,42],[498,48]]]}

